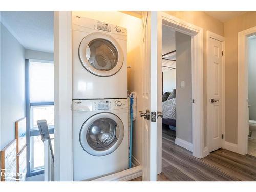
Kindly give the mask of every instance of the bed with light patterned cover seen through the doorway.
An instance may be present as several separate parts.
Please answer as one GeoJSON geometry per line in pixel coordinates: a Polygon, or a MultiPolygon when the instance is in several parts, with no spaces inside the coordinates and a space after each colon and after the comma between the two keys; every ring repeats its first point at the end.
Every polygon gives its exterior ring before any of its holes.
{"type": "Polygon", "coordinates": [[[162,102],[162,124],[176,127],[176,97],[162,102]]]}

